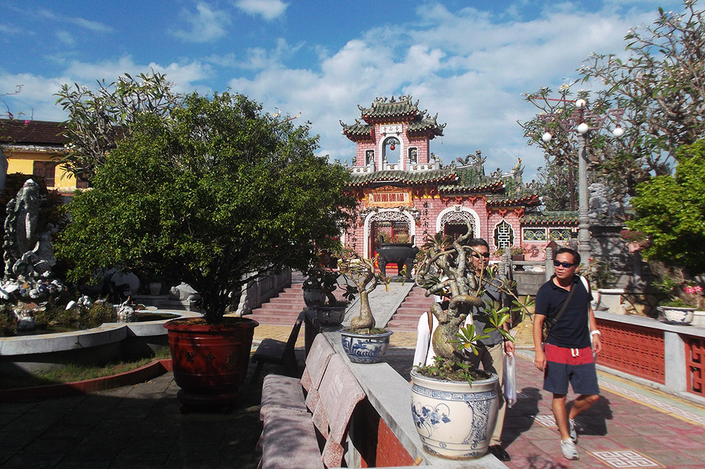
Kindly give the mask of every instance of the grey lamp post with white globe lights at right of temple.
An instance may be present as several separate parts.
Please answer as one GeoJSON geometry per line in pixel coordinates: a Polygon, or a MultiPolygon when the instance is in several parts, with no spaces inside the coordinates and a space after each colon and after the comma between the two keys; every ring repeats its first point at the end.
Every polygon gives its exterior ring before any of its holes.
{"type": "Polygon", "coordinates": [[[565,132],[576,132],[578,139],[578,158],[577,158],[577,173],[578,173],[578,210],[577,210],[577,242],[578,252],[583,262],[587,263],[590,258],[590,219],[588,217],[589,201],[587,199],[587,138],[590,130],[600,130],[608,117],[612,117],[615,121],[615,130],[613,135],[621,137],[624,135],[624,129],[620,127],[620,119],[624,114],[624,109],[615,108],[609,109],[600,116],[590,111],[587,108],[587,102],[584,99],[575,101],[568,99],[550,99],[551,101],[563,101],[575,103],[575,111],[568,118],[561,117],[558,113],[546,113],[541,115],[541,118],[546,123],[546,132],[541,139],[548,143],[551,142],[551,132],[548,125],[556,123],[561,130],[565,132]]]}

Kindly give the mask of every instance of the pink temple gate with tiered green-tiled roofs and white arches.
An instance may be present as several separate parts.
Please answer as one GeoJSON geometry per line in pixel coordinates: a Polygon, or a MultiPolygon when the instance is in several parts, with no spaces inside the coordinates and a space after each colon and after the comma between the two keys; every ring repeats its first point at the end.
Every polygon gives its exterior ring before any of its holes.
{"type": "Polygon", "coordinates": [[[491,251],[521,249],[541,260],[551,239],[570,239],[575,220],[546,220],[527,215],[539,197],[522,182],[523,168],[485,175],[486,158],[477,151],[458,163],[443,165],[430,142],[445,124],[419,111],[410,96],[377,98],[360,109],[352,125],[341,121],[343,135],[357,144],[351,190],[359,201],[357,225],[343,236],[345,246],[371,258],[384,242],[420,246],[428,235],[452,237],[467,232],[489,243],[491,251]]]}

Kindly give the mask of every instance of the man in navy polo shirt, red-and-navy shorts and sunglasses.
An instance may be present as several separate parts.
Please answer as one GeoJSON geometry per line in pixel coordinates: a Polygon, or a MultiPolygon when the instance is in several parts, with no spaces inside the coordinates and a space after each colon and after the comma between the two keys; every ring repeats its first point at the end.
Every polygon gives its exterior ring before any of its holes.
{"type": "Polygon", "coordinates": [[[602,345],[590,307],[589,286],[575,275],[580,254],[573,249],[558,249],[553,265],[556,274],[541,286],[536,296],[534,365],[544,371],[544,389],[553,393],[553,417],[560,431],[560,450],[565,458],[577,459],[575,417],[599,399],[594,356],[602,345]],[[572,289],[575,291],[568,298],[572,289]],[[542,344],[544,320],[556,318],[567,299],[565,310],[542,344]],[[573,401],[570,413],[565,406],[568,382],[573,392],[580,394],[573,401]]]}

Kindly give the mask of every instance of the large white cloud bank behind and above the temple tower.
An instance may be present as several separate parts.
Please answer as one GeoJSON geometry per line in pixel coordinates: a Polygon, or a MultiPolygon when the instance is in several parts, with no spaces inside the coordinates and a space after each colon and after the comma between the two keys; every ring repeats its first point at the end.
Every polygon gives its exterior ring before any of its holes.
{"type": "Polygon", "coordinates": [[[521,20],[515,9],[502,21],[472,8],[450,13],[424,6],[418,24],[369,30],[332,54],[319,49],[319,70],[292,70],[274,51],[252,51],[252,68],[262,71],[229,85],[265,108],[302,111],[321,135],[321,153],[348,161],[355,144],[341,136],[338,120],[352,123],[360,116],[357,104],[369,106],[376,96],[412,94],[421,109],[448,124],[445,135],[431,142],[444,161],[481,149],[489,172],[522,158],[530,180],[544,161],[538,149],[526,146],[517,125],[535,114],[520,93],[577,79],[575,70],[592,51],[623,53],[630,25],[654,16],[626,20],[612,11],[570,6],[554,5],[534,20],[521,20]]]}

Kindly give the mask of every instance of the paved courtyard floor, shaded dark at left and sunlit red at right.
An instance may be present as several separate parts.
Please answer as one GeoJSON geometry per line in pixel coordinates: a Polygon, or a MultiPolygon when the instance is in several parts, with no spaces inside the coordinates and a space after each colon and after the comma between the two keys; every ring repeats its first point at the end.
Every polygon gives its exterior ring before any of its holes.
{"type": "MultiPolygon", "coordinates": [[[[262,325],[255,339],[286,340],[289,330],[262,325]]],[[[396,333],[391,344],[386,361],[408,377],[415,334],[396,333]]],[[[704,406],[606,373],[600,401],[578,418],[580,460],[565,460],[532,351],[517,355],[520,394],[503,433],[508,467],[705,467],[704,406]]],[[[180,413],[171,374],[86,396],[0,403],[0,468],[255,468],[260,386],[243,385],[229,414],[180,413]]]]}

